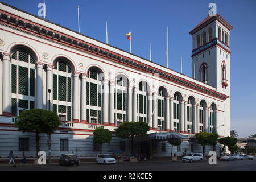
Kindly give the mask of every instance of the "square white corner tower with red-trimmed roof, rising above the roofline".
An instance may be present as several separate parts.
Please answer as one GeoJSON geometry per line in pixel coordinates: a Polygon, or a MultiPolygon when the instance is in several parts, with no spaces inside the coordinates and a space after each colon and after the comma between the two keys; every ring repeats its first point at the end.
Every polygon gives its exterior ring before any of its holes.
{"type": "Polygon", "coordinates": [[[220,15],[208,15],[192,35],[192,77],[230,96],[230,30],[220,15]]]}

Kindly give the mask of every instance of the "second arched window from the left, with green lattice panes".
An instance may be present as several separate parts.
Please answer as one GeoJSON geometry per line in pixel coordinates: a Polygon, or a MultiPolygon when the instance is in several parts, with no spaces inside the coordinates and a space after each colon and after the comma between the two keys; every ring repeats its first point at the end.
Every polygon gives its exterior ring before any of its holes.
{"type": "Polygon", "coordinates": [[[53,112],[61,121],[72,121],[72,70],[65,58],[54,62],[52,75],[53,112]]]}

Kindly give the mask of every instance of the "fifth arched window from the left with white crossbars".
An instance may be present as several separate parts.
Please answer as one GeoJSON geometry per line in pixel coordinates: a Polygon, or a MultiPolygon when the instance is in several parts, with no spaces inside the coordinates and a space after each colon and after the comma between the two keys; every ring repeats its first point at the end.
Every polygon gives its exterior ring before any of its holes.
{"type": "Polygon", "coordinates": [[[147,122],[147,92],[149,91],[148,84],[145,81],[139,82],[138,90],[138,121],[147,122]]]}

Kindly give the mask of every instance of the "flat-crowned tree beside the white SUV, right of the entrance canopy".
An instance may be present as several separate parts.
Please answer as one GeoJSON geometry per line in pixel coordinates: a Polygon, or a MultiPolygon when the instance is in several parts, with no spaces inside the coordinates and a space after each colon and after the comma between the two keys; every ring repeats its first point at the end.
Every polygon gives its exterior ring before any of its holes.
{"type": "Polygon", "coordinates": [[[197,143],[201,144],[201,146],[203,147],[203,155],[205,151],[205,146],[216,145],[217,139],[218,139],[218,134],[216,133],[208,133],[204,131],[196,134],[197,143]]]}

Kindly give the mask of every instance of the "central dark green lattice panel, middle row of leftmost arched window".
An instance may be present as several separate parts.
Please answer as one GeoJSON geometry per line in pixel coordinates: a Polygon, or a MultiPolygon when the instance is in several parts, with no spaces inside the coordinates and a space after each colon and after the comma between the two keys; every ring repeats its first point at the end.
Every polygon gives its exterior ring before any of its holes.
{"type": "Polygon", "coordinates": [[[28,96],[28,68],[19,66],[19,94],[28,96]]]}

